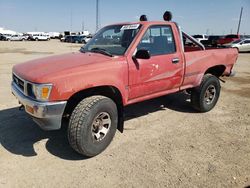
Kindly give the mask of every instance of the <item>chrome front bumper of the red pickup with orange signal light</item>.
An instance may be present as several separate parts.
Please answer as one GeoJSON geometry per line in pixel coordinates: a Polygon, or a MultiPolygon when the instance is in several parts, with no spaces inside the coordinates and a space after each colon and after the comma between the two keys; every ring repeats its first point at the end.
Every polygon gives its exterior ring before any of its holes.
{"type": "Polygon", "coordinates": [[[62,116],[67,101],[60,102],[38,102],[25,96],[12,82],[12,93],[24,106],[25,111],[30,114],[33,120],[44,130],[58,130],[61,128],[62,116]]]}

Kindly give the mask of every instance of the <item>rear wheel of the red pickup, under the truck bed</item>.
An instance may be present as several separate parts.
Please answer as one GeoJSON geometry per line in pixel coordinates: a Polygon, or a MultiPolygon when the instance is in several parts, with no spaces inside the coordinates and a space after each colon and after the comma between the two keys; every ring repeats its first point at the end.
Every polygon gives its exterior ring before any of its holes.
{"type": "Polygon", "coordinates": [[[191,103],[200,112],[208,112],[216,105],[220,96],[220,81],[216,76],[204,75],[200,86],[191,92],[191,103]]]}

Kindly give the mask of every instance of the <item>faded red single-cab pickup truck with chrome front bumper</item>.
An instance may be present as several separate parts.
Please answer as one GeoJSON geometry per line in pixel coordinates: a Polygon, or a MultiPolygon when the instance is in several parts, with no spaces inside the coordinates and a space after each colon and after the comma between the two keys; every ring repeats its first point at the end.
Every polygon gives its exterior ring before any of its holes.
{"type": "Polygon", "coordinates": [[[211,110],[237,56],[233,48],[205,50],[169,20],[119,23],[79,52],[15,65],[12,93],[41,128],[66,122],[72,148],[91,157],[123,131],[129,104],[186,90],[196,110],[211,110]]]}

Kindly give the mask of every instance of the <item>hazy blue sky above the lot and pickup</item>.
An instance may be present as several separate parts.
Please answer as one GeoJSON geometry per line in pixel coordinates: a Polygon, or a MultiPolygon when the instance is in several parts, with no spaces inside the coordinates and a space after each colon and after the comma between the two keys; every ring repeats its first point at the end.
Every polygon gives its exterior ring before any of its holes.
{"type": "MultiPolygon", "coordinates": [[[[17,32],[96,29],[96,0],[0,0],[0,27],[17,32]]],[[[162,20],[166,10],[190,34],[250,35],[250,0],[99,0],[100,26],[137,21],[142,14],[162,20]]]]}

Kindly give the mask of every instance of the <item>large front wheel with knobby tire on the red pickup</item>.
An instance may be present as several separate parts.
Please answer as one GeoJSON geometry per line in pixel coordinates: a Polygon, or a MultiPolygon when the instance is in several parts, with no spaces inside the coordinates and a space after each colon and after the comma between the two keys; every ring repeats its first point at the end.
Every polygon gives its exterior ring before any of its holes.
{"type": "Polygon", "coordinates": [[[118,124],[117,106],[104,96],[83,99],[74,109],[68,127],[68,140],[78,153],[93,157],[112,141],[118,124]]]}

